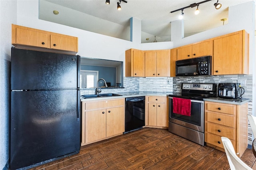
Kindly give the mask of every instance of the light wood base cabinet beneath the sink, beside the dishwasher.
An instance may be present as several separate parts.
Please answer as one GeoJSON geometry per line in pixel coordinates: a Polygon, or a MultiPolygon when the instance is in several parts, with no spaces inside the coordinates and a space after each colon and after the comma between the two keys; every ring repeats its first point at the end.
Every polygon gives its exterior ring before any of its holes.
{"type": "Polygon", "coordinates": [[[82,101],[82,146],[123,132],[124,98],[82,101]]]}

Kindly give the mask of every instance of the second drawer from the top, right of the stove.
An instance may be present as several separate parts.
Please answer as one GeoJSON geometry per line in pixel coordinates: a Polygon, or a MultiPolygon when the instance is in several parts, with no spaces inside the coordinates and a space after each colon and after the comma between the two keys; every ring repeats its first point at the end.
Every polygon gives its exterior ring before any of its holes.
{"type": "Polygon", "coordinates": [[[235,118],[228,115],[207,112],[207,121],[234,128],[235,118]]]}

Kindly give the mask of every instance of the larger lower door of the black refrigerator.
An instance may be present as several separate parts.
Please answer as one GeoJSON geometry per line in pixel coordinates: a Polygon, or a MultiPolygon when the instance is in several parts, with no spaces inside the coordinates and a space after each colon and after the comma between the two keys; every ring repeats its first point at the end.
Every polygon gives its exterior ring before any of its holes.
{"type": "Polygon", "coordinates": [[[11,169],[30,166],[80,150],[78,92],[11,92],[11,169]]]}

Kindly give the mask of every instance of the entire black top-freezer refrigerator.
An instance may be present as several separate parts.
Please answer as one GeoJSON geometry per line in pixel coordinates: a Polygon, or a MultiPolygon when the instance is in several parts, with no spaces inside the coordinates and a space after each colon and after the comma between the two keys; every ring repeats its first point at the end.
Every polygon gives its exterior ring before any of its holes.
{"type": "Polygon", "coordinates": [[[79,152],[79,80],[79,55],[12,48],[12,170],[79,152]]]}

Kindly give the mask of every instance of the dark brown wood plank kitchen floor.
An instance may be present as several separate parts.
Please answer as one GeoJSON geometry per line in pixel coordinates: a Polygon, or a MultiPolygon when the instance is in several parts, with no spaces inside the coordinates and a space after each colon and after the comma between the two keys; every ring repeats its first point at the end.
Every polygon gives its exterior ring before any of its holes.
{"type": "MultiPolygon", "coordinates": [[[[256,169],[256,158],[252,150],[247,148],[241,159],[252,169],[256,169]]],[[[82,146],[79,154],[32,169],[226,170],[230,168],[224,152],[198,145],[166,129],[143,128],[82,146]]]]}

